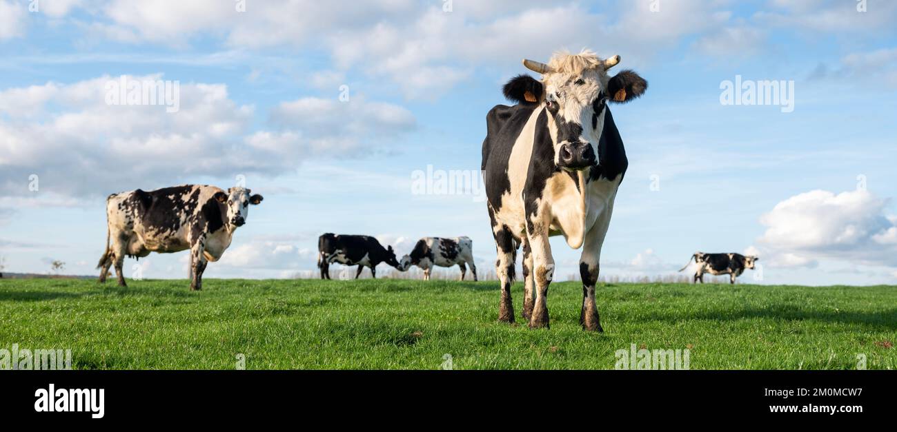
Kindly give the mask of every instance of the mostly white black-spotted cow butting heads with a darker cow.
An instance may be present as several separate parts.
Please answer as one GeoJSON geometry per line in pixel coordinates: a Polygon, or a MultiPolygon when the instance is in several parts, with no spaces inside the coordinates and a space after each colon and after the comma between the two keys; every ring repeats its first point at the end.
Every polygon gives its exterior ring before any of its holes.
{"type": "Polygon", "coordinates": [[[416,265],[423,269],[423,280],[430,281],[430,272],[434,265],[440,267],[457,265],[461,268],[461,281],[464,281],[467,272],[465,264],[470,265],[470,271],[474,273],[476,281],[474,242],[470,238],[425,237],[417,241],[411,254],[402,257],[398,270],[405,272],[412,265],[416,265]]]}

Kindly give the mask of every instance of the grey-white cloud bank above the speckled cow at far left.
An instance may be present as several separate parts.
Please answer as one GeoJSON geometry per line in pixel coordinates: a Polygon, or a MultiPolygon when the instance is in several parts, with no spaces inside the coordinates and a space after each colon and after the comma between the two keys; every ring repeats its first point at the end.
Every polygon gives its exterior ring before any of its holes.
{"type": "Polygon", "coordinates": [[[414,127],[414,116],[396,105],[310,98],[274,109],[283,130],[253,132],[255,109],[230,99],[226,85],[181,83],[179,111],[169,113],[108,105],[110,80],[118,77],[0,91],[0,190],[30,194],[32,174],[42,197],[57,198],[170,186],[187,177],[275,176],[326,151],[370,151],[378,143],[371,135],[395,138],[414,127]]]}

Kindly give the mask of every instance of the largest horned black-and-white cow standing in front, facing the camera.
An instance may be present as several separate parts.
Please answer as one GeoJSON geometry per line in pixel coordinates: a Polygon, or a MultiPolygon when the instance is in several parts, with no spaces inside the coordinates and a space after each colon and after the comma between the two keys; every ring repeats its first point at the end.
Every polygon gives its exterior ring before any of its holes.
{"type": "Polygon", "coordinates": [[[548,238],[563,236],[582,247],[579,324],[602,332],[595,285],[601,246],[614,197],[629,165],[609,103],[639,98],[648,82],[626,70],[608,69],[620,56],[555,53],[547,65],[523,64],[541,80],[518,75],[503,88],[513,106],[498,105],[486,117],[483,182],[501,282],[499,321],[514,322],[510,287],[518,246],[523,246],[523,317],[530,328],[548,328],[548,286],[554,260],[548,238]]]}

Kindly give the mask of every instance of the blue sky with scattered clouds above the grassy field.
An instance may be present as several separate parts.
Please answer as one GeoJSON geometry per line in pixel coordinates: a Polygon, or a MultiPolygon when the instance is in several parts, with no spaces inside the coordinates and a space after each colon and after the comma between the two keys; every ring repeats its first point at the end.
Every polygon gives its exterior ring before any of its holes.
{"type": "MultiPolygon", "coordinates": [[[[897,281],[897,4],[359,3],[0,0],[6,271],[59,259],[92,274],[106,195],[238,176],[266,201],[209,277],[309,272],[328,231],[401,253],[466,235],[491,271],[485,204],[413,194],[413,173],[477,172],[485,113],[520,59],[591,48],[650,84],[613,108],[630,170],[603,275],[675,273],[701,250],[760,255],[743,276],[757,283],[897,281]],[[179,82],[179,112],[109,106],[121,75],[179,82]],[[793,112],[722,105],[737,75],[786,82],[793,112]]],[[[553,251],[562,279],[577,272],[579,251],[553,251]]],[[[184,277],[185,255],[141,271],[184,277]]]]}

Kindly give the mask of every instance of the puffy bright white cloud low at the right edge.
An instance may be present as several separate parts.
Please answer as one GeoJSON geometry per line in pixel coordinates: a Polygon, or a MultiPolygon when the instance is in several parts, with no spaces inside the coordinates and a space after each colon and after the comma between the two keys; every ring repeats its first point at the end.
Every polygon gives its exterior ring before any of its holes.
{"type": "Polygon", "coordinates": [[[782,201],[760,218],[758,242],[772,266],[814,266],[821,259],[897,264],[897,228],[886,200],[865,190],[815,190],[782,201]]]}

